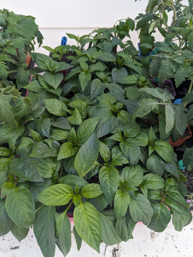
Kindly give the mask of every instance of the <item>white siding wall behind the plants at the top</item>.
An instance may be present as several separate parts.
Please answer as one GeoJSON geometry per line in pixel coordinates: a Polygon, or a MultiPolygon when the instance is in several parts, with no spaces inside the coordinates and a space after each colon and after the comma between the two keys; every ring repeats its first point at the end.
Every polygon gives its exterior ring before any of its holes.
{"type": "MultiPolygon", "coordinates": [[[[60,45],[65,33],[84,35],[96,27],[113,27],[119,19],[135,19],[138,13],[145,13],[148,0],[0,0],[0,9],[6,8],[16,14],[32,15],[44,36],[43,45],[55,48],[60,45]]],[[[182,3],[187,4],[188,0],[182,3]]],[[[130,33],[135,47],[137,32],[130,33]]],[[[156,39],[161,40],[157,34],[156,39]]],[[[76,44],[68,39],[67,44],[76,44]]],[[[44,48],[35,51],[48,54],[44,48]]]]}

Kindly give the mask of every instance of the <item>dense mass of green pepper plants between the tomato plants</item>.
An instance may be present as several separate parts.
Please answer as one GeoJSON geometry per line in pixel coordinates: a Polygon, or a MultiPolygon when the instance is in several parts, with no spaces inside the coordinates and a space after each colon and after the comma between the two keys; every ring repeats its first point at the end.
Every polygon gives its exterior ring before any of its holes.
{"type": "Polygon", "coordinates": [[[24,87],[31,106],[16,127],[2,120],[0,235],[11,230],[21,241],[33,225],[46,257],[55,244],[64,256],[70,251],[71,208],[77,249],[83,239],[97,252],[101,240],[133,238],[137,222],[162,232],[171,214],[177,231],[192,220],[186,178],[167,142],[176,124],[167,131],[172,96],[147,88],[138,52],[122,42],[128,24],[75,38],[70,63],[61,62],[69,47],[31,54],[37,67],[24,87]]]}

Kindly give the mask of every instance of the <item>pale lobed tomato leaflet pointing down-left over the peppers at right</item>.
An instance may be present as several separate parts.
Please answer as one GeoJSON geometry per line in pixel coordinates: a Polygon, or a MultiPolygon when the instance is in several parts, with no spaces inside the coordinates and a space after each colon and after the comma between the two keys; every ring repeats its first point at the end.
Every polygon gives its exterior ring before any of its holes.
{"type": "Polygon", "coordinates": [[[157,109],[159,108],[159,104],[158,104],[158,99],[143,99],[140,100],[138,102],[137,108],[135,109],[134,113],[133,113],[133,118],[132,120],[135,121],[135,119],[137,117],[143,117],[144,115],[146,115],[147,113],[149,113],[151,110],[153,109],[157,109]]]}

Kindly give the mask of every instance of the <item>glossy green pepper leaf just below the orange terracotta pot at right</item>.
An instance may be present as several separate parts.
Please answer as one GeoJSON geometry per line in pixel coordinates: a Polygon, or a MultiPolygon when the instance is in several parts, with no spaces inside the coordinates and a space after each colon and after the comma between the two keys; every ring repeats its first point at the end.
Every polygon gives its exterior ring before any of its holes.
{"type": "Polygon", "coordinates": [[[169,143],[159,140],[155,142],[154,148],[165,161],[174,162],[174,149],[169,143]]]}

